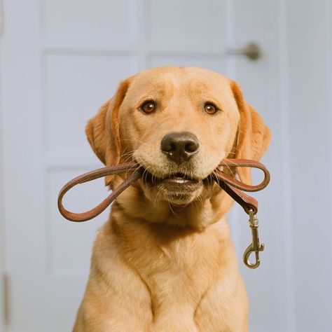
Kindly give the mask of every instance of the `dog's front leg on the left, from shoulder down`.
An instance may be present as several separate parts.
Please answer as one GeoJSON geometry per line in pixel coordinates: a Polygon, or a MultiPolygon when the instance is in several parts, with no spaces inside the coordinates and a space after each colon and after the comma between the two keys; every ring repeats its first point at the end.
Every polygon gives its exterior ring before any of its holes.
{"type": "Polygon", "coordinates": [[[73,331],[150,332],[152,320],[146,285],[120,257],[113,238],[102,230],[95,242],[88,286],[73,331]]]}

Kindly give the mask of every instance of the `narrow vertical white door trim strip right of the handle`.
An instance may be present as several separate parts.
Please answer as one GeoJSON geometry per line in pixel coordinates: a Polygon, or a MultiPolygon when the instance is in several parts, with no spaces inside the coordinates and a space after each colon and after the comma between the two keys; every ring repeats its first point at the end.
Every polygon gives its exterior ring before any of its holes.
{"type": "Polygon", "coordinates": [[[291,184],[291,141],[290,132],[290,106],[289,106],[289,59],[288,59],[288,25],[287,25],[287,0],[278,1],[277,3],[277,87],[279,95],[279,114],[280,129],[282,135],[279,139],[281,142],[280,154],[282,160],[282,234],[284,278],[284,331],[296,331],[296,310],[295,310],[295,294],[294,294],[294,264],[293,264],[293,227],[292,227],[292,184],[291,184]]]}

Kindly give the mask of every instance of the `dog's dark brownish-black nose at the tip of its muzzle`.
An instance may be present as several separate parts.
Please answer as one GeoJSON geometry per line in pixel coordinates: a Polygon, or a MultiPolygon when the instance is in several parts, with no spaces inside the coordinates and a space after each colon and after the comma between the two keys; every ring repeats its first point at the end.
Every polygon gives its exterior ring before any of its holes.
{"type": "Polygon", "coordinates": [[[198,153],[198,138],[191,132],[170,132],[162,137],[160,148],[167,158],[177,162],[189,160],[198,153]]]}

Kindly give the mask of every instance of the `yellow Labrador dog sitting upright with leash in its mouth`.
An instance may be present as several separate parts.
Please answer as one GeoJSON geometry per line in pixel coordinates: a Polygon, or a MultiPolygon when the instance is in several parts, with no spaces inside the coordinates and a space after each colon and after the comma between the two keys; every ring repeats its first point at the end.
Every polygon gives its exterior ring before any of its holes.
{"type": "MultiPolygon", "coordinates": [[[[260,159],[270,141],[237,84],[196,67],[143,71],[86,133],[104,164],[135,160],[146,172],[99,231],[74,331],[248,331],[225,219],[233,200],[209,178],[223,158],[260,159]]],[[[238,173],[251,182],[248,169],[238,173]]]]}

